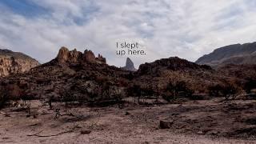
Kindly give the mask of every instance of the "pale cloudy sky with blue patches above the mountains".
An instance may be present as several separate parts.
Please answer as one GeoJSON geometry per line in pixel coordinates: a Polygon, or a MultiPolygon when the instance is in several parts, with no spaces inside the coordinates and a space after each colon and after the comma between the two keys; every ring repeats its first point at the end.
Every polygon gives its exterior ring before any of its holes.
{"type": "Polygon", "coordinates": [[[124,66],[178,56],[194,62],[214,49],[256,41],[252,0],[0,0],[0,48],[49,62],[61,46],[124,66]],[[118,55],[138,42],[145,55],[118,55]]]}

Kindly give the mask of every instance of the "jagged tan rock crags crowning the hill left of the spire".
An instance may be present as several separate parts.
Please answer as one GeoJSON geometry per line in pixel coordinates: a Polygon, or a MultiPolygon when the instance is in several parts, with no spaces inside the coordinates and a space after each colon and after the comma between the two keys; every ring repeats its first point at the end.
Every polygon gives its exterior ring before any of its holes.
{"type": "Polygon", "coordinates": [[[91,50],[85,50],[84,54],[82,52],[74,50],[68,50],[66,47],[62,47],[57,58],[55,58],[59,63],[106,63],[106,58],[103,58],[101,54],[98,54],[98,58],[95,57],[91,50]]]}

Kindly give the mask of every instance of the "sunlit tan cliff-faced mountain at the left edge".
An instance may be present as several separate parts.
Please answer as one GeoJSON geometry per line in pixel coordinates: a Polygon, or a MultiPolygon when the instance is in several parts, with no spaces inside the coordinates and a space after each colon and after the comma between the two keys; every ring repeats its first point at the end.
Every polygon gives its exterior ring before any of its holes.
{"type": "Polygon", "coordinates": [[[23,73],[38,65],[38,61],[26,54],[0,49],[0,77],[23,73]]]}

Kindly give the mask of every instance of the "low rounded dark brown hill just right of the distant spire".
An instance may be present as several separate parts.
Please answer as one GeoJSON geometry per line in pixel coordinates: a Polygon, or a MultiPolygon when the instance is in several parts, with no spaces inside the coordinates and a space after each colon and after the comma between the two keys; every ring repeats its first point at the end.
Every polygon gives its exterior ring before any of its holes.
{"type": "Polygon", "coordinates": [[[225,82],[228,75],[219,74],[210,66],[198,65],[186,59],[171,57],[139,66],[134,83],[164,92],[168,82],[186,82],[191,90],[204,93],[208,86],[225,82]]]}

